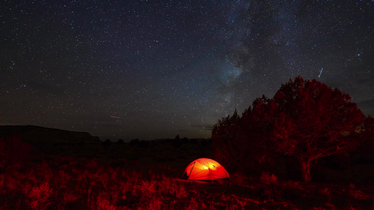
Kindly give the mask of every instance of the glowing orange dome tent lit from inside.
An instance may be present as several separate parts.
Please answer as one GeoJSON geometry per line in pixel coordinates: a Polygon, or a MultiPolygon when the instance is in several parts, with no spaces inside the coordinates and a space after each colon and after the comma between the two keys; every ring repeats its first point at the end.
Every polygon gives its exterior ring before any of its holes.
{"type": "Polygon", "coordinates": [[[188,177],[188,180],[213,180],[230,177],[221,164],[209,158],[199,158],[192,161],[184,169],[182,176],[188,177]]]}

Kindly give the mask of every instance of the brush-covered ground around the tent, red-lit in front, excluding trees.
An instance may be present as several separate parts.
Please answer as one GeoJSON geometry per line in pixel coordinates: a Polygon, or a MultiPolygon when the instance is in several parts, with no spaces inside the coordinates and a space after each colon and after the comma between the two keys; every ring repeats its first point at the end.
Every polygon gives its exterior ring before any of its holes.
{"type": "Polygon", "coordinates": [[[374,209],[374,187],[353,182],[230,171],[229,181],[181,179],[211,152],[211,143],[34,145],[25,160],[0,169],[0,210],[374,209]]]}

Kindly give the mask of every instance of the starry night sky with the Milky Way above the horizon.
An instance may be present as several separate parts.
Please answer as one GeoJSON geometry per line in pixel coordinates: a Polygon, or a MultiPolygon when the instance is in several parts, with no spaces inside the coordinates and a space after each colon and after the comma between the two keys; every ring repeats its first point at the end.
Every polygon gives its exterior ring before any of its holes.
{"type": "Polygon", "coordinates": [[[374,115],[373,11],[354,0],[3,1],[0,125],[210,138],[218,119],[298,75],[374,115]]]}

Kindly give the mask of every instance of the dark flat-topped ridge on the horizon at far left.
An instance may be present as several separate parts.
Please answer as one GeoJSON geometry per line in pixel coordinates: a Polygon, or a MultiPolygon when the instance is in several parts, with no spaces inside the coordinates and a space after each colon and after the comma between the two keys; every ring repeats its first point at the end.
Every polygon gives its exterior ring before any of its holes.
{"type": "Polygon", "coordinates": [[[20,136],[24,142],[40,143],[101,143],[98,136],[91,136],[87,132],[60,130],[41,126],[0,126],[0,138],[20,136]]]}

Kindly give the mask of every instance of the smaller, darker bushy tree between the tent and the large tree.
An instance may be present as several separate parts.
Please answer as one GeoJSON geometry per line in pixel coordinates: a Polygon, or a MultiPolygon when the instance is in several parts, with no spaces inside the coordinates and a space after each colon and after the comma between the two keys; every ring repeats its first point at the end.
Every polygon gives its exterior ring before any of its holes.
{"type": "Polygon", "coordinates": [[[240,117],[235,109],[212,130],[213,159],[233,172],[252,173],[258,163],[266,163],[272,155],[261,142],[262,128],[251,112],[249,107],[240,117]]]}

